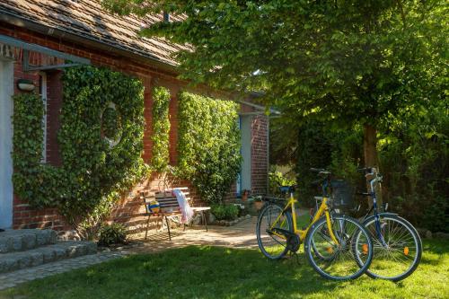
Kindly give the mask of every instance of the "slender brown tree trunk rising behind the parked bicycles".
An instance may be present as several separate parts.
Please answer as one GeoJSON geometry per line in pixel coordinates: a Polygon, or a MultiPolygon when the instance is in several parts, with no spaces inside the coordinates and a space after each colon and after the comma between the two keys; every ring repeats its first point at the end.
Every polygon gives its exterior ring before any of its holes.
{"type": "MultiPolygon", "coordinates": [[[[375,167],[379,171],[379,161],[377,159],[377,136],[376,129],[371,125],[364,126],[364,158],[365,167],[375,167]]],[[[371,178],[368,178],[371,179],[371,178]]],[[[370,190],[370,185],[366,182],[368,190],[370,190]]],[[[375,189],[375,194],[377,198],[377,207],[382,207],[382,190],[380,184],[377,185],[375,189]]],[[[373,198],[368,197],[369,207],[373,207],[373,198]]]]}

